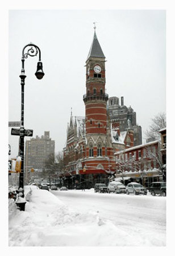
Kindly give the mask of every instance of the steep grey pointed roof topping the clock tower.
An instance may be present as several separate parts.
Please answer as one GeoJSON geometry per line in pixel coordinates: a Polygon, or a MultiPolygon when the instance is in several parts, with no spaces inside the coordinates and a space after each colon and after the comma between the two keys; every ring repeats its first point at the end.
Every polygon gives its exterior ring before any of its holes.
{"type": "Polygon", "coordinates": [[[97,39],[97,35],[94,31],[94,38],[93,38],[93,42],[91,44],[90,50],[89,50],[89,54],[87,56],[87,60],[89,59],[89,57],[101,57],[101,58],[105,58],[105,55],[103,54],[102,48],[98,42],[97,39]]]}

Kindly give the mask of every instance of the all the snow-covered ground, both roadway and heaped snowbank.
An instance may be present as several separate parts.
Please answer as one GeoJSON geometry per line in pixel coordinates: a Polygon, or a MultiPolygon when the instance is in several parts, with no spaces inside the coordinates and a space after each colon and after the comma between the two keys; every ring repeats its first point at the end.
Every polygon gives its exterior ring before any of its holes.
{"type": "Polygon", "coordinates": [[[31,189],[25,212],[10,199],[9,246],[166,246],[166,197],[31,189]]]}

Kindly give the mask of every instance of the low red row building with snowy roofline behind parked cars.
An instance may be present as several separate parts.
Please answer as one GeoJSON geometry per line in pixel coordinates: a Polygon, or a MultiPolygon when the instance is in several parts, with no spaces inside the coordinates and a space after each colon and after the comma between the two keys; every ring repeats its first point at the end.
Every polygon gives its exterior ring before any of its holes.
{"type": "Polygon", "coordinates": [[[125,184],[135,181],[146,187],[152,182],[162,181],[160,150],[160,142],[154,141],[116,152],[115,179],[125,184]]]}

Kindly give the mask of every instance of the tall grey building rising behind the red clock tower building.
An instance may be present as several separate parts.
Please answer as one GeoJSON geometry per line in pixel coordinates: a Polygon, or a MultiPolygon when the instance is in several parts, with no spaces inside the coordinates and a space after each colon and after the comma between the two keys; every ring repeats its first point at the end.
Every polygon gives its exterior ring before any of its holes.
{"type": "Polygon", "coordinates": [[[121,131],[128,129],[128,122],[130,121],[130,128],[133,130],[134,146],[142,144],[141,126],[136,124],[136,112],[131,108],[124,105],[124,98],[121,97],[119,104],[118,97],[110,97],[108,101],[108,112],[110,120],[113,123],[118,123],[121,131]]]}

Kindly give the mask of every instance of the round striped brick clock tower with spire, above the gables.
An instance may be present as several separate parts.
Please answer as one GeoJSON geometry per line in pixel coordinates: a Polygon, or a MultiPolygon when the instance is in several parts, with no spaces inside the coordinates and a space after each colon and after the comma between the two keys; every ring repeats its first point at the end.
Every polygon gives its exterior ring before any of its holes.
{"type": "Polygon", "coordinates": [[[105,82],[105,55],[94,27],[94,38],[86,60],[86,135],[107,133],[108,94],[105,93],[105,82]]]}

